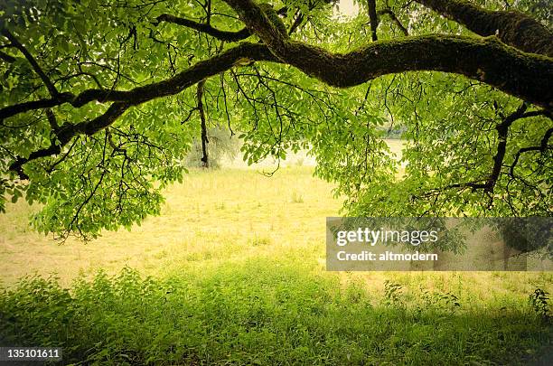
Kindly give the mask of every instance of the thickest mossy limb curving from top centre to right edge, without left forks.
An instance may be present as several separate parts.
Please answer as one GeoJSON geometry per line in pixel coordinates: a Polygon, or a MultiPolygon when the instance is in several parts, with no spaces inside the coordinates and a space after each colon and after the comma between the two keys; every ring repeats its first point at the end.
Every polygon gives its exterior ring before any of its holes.
{"type": "Polygon", "coordinates": [[[390,73],[436,70],[480,80],[543,108],[553,108],[553,60],[520,52],[495,37],[423,35],[372,42],[345,54],[331,53],[278,32],[252,0],[225,1],[278,59],[335,87],[359,85],[390,73]]]}

